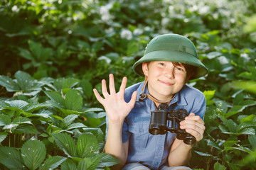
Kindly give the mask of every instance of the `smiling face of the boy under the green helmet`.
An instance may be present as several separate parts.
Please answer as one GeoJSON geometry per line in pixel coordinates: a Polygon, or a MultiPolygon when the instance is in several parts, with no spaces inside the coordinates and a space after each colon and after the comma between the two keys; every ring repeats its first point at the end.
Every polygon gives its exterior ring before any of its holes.
{"type": "Polygon", "coordinates": [[[172,62],[144,62],[142,70],[148,77],[149,93],[161,101],[172,98],[187,81],[186,69],[182,64],[174,66],[172,62]]]}

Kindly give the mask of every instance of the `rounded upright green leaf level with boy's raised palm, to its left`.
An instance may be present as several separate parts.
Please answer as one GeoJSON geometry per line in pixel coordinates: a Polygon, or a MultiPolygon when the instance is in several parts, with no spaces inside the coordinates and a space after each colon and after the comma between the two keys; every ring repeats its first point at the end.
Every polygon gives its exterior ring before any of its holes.
{"type": "Polygon", "coordinates": [[[65,96],[65,107],[72,111],[80,111],[82,108],[82,96],[78,91],[71,89],[65,96]]]}

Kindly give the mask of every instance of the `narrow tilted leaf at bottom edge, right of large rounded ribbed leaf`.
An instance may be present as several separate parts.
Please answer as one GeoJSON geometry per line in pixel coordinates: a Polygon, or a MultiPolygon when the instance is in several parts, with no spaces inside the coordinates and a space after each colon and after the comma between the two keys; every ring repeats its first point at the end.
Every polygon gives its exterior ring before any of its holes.
{"type": "Polygon", "coordinates": [[[65,157],[55,156],[50,157],[46,159],[45,162],[39,167],[40,170],[48,170],[48,169],[55,169],[57,168],[61,163],[65,161],[65,157]]]}

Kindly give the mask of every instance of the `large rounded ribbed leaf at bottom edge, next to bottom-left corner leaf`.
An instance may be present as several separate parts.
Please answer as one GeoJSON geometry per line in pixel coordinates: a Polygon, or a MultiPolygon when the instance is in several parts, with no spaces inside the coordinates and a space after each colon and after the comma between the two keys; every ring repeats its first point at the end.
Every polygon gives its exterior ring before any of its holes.
{"type": "Polygon", "coordinates": [[[46,147],[39,140],[28,140],[21,147],[21,156],[28,169],[37,169],[46,158],[46,147]]]}

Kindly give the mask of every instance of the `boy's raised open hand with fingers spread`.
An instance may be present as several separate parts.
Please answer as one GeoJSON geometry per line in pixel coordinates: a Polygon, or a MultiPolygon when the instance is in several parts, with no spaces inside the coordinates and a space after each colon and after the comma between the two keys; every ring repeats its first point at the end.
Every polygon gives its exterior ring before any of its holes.
{"type": "Polygon", "coordinates": [[[120,86],[119,93],[116,93],[116,90],[114,88],[114,75],[110,74],[110,94],[107,92],[107,85],[104,79],[102,80],[102,94],[104,98],[100,96],[96,89],[93,89],[97,101],[99,101],[105,108],[109,123],[123,123],[124,118],[127,117],[129,112],[134,107],[137,92],[134,91],[129,103],[126,103],[124,101],[124,90],[126,84],[127,78],[124,77],[122,79],[122,84],[120,86]]]}

